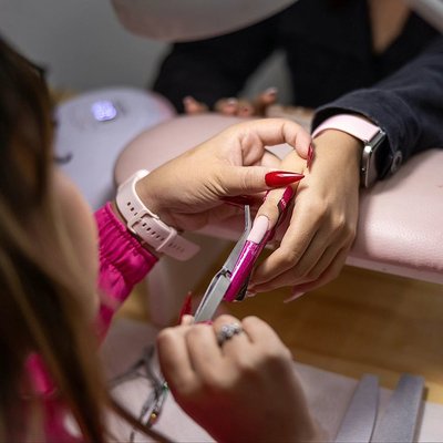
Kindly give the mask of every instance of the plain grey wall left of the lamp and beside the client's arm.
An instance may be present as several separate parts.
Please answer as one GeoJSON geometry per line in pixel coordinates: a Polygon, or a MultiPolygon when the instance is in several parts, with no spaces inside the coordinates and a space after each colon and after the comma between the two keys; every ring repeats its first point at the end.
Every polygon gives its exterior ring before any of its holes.
{"type": "MultiPolygon", "coordinates": [[[[0,32],[48,68],[52,87],[62,91],[145,87],[167,50],[166,43],[126,31],[109,0],[0,0],[0,32]]],[[[245,94],[268,86],[278,87],[280,103],[290,95],[280,53],[261,66],[245,94]]]]}

